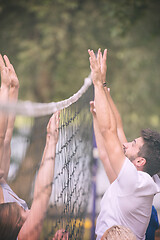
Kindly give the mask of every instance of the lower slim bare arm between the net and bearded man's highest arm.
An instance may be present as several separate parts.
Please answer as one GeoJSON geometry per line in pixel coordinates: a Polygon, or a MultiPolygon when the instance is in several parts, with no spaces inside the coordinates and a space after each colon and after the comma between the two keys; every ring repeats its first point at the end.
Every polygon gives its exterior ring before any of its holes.
{"type": "Polygon", "coordinates": [[[101,159],[101,161],[103,163],[105,172],[108,176],[110,183],[112,183],[116,179],[116,175],[112,169],[112,166],[111,166],[109,158],[108,158],[108,154],[107,154],[106,147],[104,144],[104,138],[99,130],[94,102],[90,102],[90,111],[93,116],[93,127],[94,127],[94,133],[95,133],[95,137],[96,137],[99,158],[101,159]]]}

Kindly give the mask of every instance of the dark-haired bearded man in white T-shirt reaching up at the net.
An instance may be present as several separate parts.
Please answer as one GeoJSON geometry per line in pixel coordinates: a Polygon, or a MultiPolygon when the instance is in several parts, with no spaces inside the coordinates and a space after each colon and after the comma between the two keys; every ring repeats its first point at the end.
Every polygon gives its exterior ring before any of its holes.
{"type": "Polygon", "coordinates": [[[113,225],[130,228],[137,239],[145,239],[154,195],[159,192],[160,134],[142,130],[141,137],[126,142],[120,116],[110,97],[104,78],[107,50],[97,58],[90,55],[95,99],[91,102],[94,130],[100,158],[111,185],[101,201],[97,219],[97,239],[113,225]],[[152,178],[153,177],[153,178],[152,178]]]}

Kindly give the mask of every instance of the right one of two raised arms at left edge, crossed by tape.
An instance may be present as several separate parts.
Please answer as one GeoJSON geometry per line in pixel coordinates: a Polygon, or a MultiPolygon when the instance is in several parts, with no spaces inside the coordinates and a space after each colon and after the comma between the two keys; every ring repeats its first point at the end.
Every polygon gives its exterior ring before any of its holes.
{"type": "MultiPolygon", "coordinates": [[[[4,60],[6,62],[7,68],[9,69],[9,77],[10,77],[9,101],[16,102],[18,99],[19,81],[15,73],[14,67],[10,63],[8,57],[4,56],[4,60]]],[[[7,180],[9,167],[10,167],[11,139],[13,134],[14,122],[15,122],[15,115],[10,114],[8,116],[8,125],[7,125],[6,135],[4,139],[4,151],[3,151],[2,164],[1,164],[1,168],[4,171],[5,180],[7,180]]]]}

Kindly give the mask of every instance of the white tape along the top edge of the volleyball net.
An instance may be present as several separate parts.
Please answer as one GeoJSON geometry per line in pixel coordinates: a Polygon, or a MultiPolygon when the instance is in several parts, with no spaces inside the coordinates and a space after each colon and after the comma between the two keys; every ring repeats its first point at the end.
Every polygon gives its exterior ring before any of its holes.
{"type": "Polygon", "coordinates": [[[79,91],[70,98],[63,101],[51,103],[34,103],[31,101],[18,101],[17,103],[0,103],[0,110],[30,117],[50,115],[57,110],[64,109],[76,102],[86,92],[86,90],[91,86],[91,84],[92,80],[89,75],[87,78],[84,79],[84,84],[79,89],[79,91]]]}

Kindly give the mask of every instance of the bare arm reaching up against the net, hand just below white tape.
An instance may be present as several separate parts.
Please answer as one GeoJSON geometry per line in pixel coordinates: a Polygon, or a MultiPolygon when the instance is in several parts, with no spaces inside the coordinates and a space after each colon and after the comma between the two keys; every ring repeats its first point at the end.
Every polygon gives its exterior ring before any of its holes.
{"type": "Polygon", "coordinates": [[[58,125],[59,113],[55,113],[47,126],[46,146],[35,182],[33,203],[29,216],[18,235],[19,240],[39,239],[52,191],[58,125]]]}

